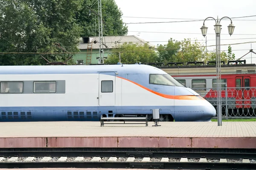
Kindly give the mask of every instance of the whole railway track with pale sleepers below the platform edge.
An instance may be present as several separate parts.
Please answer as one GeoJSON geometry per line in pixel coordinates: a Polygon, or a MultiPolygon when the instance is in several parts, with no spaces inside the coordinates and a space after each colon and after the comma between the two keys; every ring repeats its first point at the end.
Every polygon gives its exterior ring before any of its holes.
{"type": "Polygon", "coordinates": [[[0,148],[0,168],[256,170],[256,149],[0,148]]]}

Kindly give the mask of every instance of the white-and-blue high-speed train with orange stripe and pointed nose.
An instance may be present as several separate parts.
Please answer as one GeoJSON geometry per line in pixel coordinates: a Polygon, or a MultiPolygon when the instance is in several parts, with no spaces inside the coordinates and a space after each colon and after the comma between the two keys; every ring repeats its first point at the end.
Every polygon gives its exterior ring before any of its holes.
{"type": "Polygon", "coordinates": [[[210,121],[215,108],[154,66],[0,66],[0,121],[210,121]]]}

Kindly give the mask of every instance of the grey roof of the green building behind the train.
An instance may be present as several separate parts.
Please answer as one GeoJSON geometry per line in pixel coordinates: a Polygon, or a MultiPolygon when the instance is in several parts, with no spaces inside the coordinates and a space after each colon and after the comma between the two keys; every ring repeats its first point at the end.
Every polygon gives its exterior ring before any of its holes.
{"type": "MultiPolygon", "coordinates": [[[[89,38],[89,42],[93,42],[96,40],[97,43],[93,43],[93,49],[99,49],[99,37],[81,37],[78,48],[80,50],[87,49],[88,43],[84,43],[84,40],[88,41],[88,38],[89,38]],[[87,39],[85,39],[85,38],[87,38],[87,39]]],[[[140,39],[139,37],[136,37],[135,35],[103,37],[103,44],[105,44],[107,46],[107,47],[104,46],[104,49],[114,49],[114,48],[116,48],[116,46],[126,43],[126,42],[127,43],[129,43],[129,42],[137,43],[139,45],[148,43],[147,41],[140,39]]],[[[153,44],[148,43],[148,45],[156,49],[156,46],[154,46],[153,44]]]]}

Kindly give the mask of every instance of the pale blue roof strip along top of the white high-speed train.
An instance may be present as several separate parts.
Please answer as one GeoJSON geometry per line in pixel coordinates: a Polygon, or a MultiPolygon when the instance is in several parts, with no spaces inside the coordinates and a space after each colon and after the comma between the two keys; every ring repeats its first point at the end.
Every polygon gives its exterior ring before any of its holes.
{"type": "Polygon", "coordinates": [[[126,74],[166,74],[161,69],[144,64],[64,65],[64,66],[0,66],[0,74],[97,74],[119,72],[126,74]]]}

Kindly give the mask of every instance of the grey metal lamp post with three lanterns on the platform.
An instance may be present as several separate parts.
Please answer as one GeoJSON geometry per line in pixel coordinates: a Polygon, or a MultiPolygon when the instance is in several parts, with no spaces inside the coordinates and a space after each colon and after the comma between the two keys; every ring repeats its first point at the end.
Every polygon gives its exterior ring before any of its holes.
{"type": "MultiPolygon", "coordinates": [[[[212,18],[215,20],[213,17],[207,17],[204,22],[208,19],[212,18]]],[[[221,20],[223,18],[229,18],[230,17],[222,17],[220,21],[218,20],[217,16],[217,21],[215,20],[215,34],[216,34],[216,78],[217,78],[217,112],[218,112],[218,126],[222,126],[222,113],[221,113],[221,40],[220,40],[220,35],[221,35],[221,20]]],[[[231,23],[228,28],[228,33],[230,36],[233,34],[235,26],[232,23],[232,20],[230,19],[231,23]]],[[[205,37],[207,33],[207,26],[204,25],[201,27],[201,32],[202,35],[205,37]]]]}

